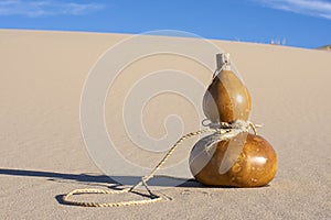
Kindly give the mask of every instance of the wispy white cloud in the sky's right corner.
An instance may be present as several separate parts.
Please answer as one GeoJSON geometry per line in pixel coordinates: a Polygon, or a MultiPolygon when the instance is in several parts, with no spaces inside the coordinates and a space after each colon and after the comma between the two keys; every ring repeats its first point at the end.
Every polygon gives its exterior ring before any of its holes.
{"type": "Polygon", "coordinates": [[[254,0],[273,9],[331,20],[331,2],[324,0],[254,0]]]}

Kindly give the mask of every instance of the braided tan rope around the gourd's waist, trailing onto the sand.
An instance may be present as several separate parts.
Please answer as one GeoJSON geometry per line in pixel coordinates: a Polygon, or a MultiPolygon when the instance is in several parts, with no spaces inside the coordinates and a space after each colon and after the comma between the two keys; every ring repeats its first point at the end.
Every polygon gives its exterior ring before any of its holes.
{"type": "Polygon", "coordinates": [[[164,157],[159,162],[159,164],[146,176],[141,177],[141,180],[132,186],[131,188],[125,188],[121,190],[103,190],[103,189],[75,189],[67,195],[63,197],[63,201],[67,205],[74,205],[74,206],[83,206],[83,207],[122,207],[122,206],[134,206],[134,205],[145,205],[145,204],[152,204],[157,201],[163,200],[163,198],[159,195],[153,194],[149,187],[147,182],[154,177],[154,174],[160,169],[160,167],[168,161],[168,158],[173,154],[175,148],[184,142],[186,139],[190,139],[192,136],[196,136],[203,133],[207,132],[214,132],[214,134],[217,136],[217,142],[223,140],[228,140],[231,138],[236,136],[241,132],[249,132],[249,129],[254,131],[256,134],[256,128],[260,125],[255,125],[252,122],[246,122],[242,120],[237,120],[233,123],[227,122],[218,122],[218,123],[205,123],[204,120],[202,122],[203,125],[209,127],[207,129],[200,130],[196,132],[191,132],[185,135],[183,135],[181,139],[179,139],[172,147],[168,151],[168,153],[164,155],[164,157]],[[82,195],[82,194],[126,194],[126,193],[134,193],[134,189],[136,189],[139,186],[145,186],[146,190],[149,193],[149,199],[142,199],[142,200],[131,200],[131,201],[119,201],[119,202],[88,202],[88,201],[78,201],[72,199],[74,195],[82,195]]]}

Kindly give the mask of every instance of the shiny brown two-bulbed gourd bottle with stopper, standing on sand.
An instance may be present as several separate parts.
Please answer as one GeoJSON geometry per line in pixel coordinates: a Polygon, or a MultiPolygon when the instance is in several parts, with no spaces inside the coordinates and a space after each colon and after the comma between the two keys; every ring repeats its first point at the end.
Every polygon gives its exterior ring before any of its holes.
{"type": "MultiPolygon", "coordinates": [[[[212,123],[247,121],[250,95],[234,74],[228,54],[217,54],[220,73],[213,78],[204,99],[203,111],[212,123]]],[[[215,134],[201,139],[191,151],[190,169],[196,180],[210,186],[265,186],[276,175],[277,156],[261,136],[242,132],[217,141],[215,134]]]]}

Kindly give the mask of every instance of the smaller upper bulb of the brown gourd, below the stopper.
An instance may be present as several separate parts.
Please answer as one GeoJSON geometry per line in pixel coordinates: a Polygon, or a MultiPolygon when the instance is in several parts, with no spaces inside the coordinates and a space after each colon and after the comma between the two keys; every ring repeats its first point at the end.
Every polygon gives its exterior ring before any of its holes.
{"type": "Polygon", "coordinates": [[[203,111],[212,122],[247,121],[252,100],[247,88],[231,70],[222,70],[203,97],[203,111]]]}

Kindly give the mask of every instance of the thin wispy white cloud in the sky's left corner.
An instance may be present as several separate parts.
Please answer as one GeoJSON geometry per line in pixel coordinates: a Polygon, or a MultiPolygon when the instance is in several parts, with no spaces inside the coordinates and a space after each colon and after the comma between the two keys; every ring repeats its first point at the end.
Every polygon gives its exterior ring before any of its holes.
{"type": "Polygon", "coordinates": [[[55,0],[3,0],[0,1],[0,15],[81,15],[103,9],[98,3],[77,3],[55,0]]]}

